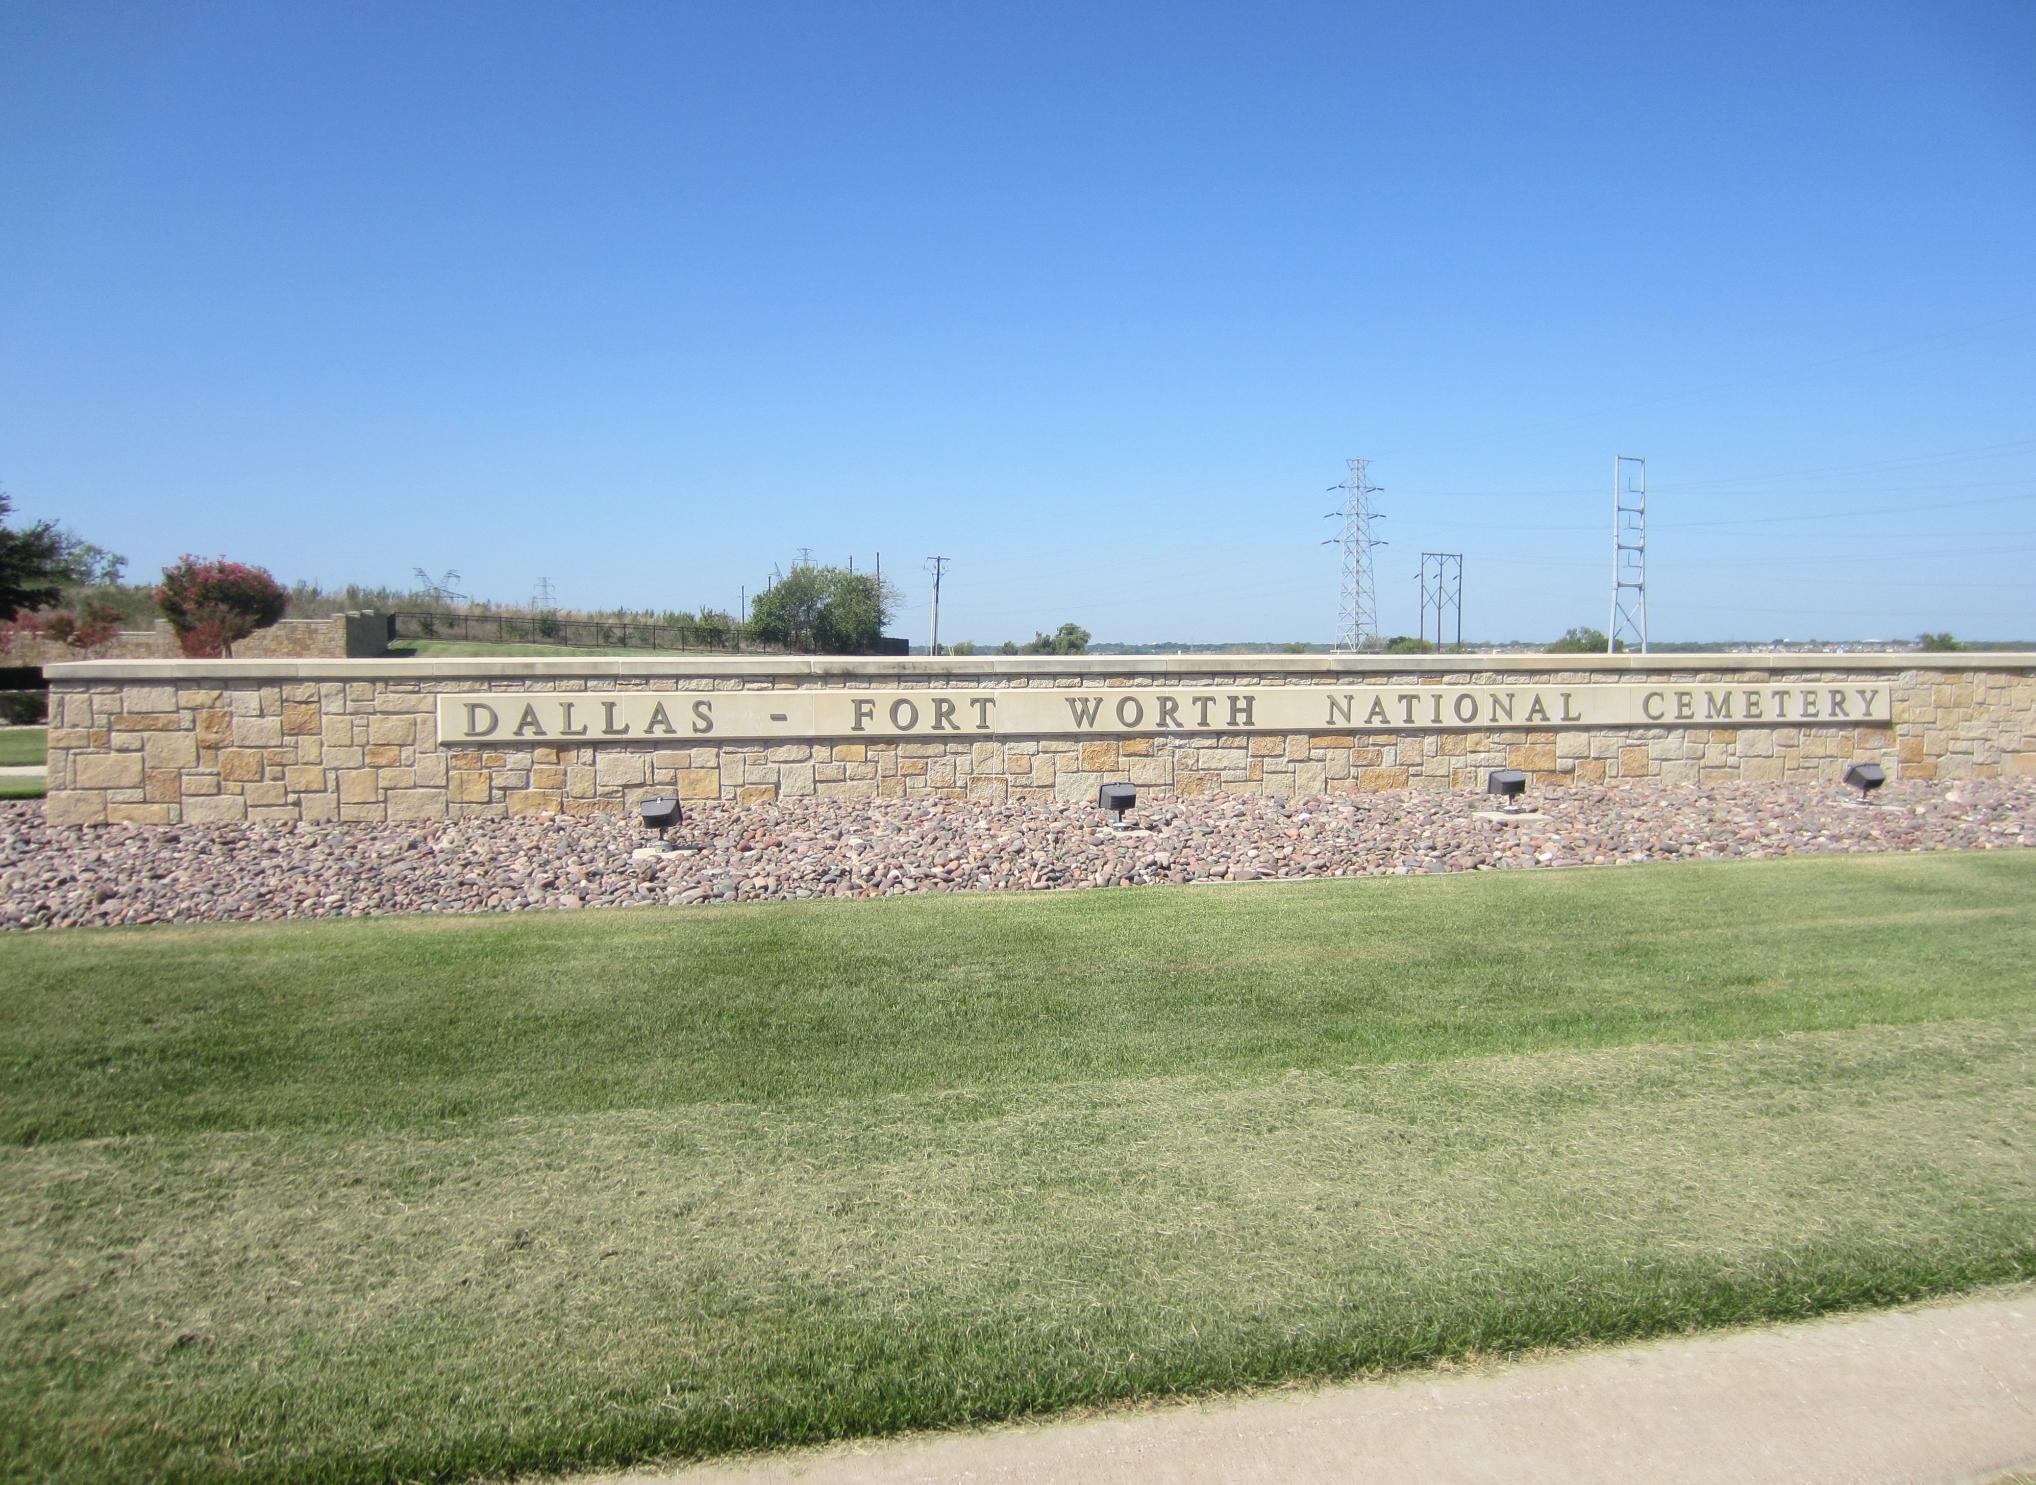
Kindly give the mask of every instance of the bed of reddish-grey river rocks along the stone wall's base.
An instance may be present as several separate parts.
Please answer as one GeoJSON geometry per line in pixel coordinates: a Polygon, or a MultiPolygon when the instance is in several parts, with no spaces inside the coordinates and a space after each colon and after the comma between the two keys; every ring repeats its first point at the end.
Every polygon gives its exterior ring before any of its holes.
{"type": "Polygon", "coordinates": [[[527,913],[1148,882],[1405,876],[1845,851],[2036,845],[2036,780],[1839,786],[1617,784],[1535,796],[1429,790],[1154,796],[1112,829],[1093,805],[833,801],[698,805],[674,841],[625,815],[423,825],[43,823],[0,803],[0,929],[527,913]]]}

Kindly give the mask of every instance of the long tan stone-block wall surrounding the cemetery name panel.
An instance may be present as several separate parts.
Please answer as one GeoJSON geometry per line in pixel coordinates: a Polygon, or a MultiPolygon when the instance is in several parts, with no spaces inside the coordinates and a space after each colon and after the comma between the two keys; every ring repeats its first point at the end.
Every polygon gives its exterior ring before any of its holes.
{"type": "Polygon", "coordinates": [[[83,662],[51,670],[55,823],[401,821],[633,809],[647,790],[759,803],[798,796],[1095,799],[1156,792],[1319,794],[1482,788],[1521,768],[1537,788],[1621,778],[1836,780],[1875,760],[1904,778],[2036,774],[2036,656],[1083,656],[910,660],[354,660],[83,662]],[[631,739],[440,746],[438,697],[550,691],[1330,684],[1889,686],[1885,725],[1429,731],[1201,731],[1116,737],[631,739]]]}

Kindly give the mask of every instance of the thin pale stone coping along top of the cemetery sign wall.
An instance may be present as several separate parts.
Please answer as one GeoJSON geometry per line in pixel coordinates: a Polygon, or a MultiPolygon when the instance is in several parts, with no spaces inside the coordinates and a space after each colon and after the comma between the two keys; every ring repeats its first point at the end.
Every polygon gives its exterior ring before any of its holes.
{"type": "Polygon", "coordinates": [[[505,680],[505,678],[928,678],[928,676],[1366,676],[1586,670],[2036,670],[2036,652],[1873,654],[1089,654],[1089,656],[586,656],[354,660],[71,660],[49,680],[505,680]]]}

